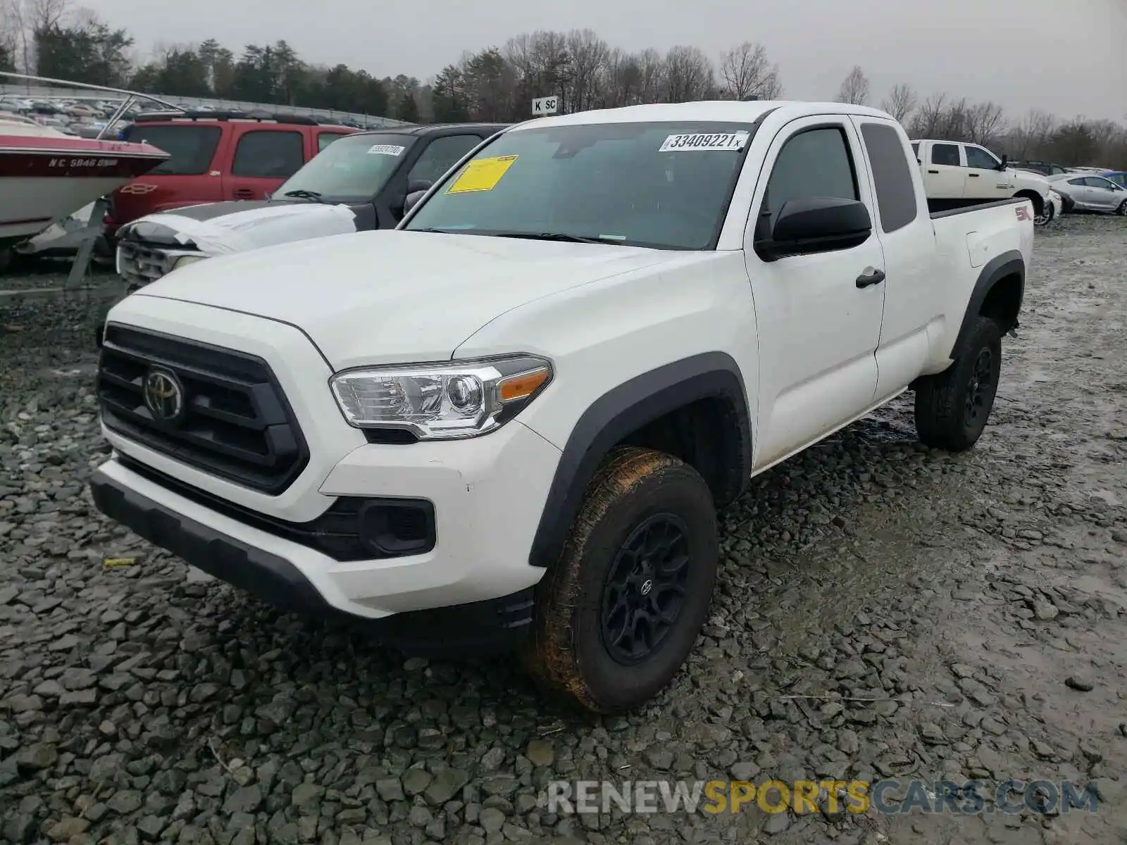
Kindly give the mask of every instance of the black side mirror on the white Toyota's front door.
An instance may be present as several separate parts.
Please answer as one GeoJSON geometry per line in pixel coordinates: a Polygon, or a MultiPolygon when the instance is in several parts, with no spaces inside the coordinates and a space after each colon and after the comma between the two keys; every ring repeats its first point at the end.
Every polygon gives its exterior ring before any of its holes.
{"type": "Polygon", "coordinates": [[[857,199],[811,196],[787,201],[770,235],[757,239],[755,252],[764,261],[788,255],[829,252],[858,247],[872,234],[869,210],[857,199]]]}

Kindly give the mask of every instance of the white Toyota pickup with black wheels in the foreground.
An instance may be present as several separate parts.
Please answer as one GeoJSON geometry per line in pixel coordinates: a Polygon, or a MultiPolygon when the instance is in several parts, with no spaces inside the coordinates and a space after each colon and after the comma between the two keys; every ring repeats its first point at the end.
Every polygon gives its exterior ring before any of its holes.
{"type": "Polygon", "coordinates": [[[673,678],[717,508],[915,391],[979,437],[1032,211],[929,214],[887,114],[686,103],[536,119],[393,231],[215,258],[109,313],[109,517],[408,648],[521,649],[598,712],[673,678]]]}

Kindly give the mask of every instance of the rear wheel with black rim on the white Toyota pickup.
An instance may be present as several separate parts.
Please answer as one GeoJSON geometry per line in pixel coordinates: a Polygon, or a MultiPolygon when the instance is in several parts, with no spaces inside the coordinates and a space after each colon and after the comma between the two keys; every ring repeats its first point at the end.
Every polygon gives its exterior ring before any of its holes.
{"type": "Polygon", "coordinates": [[[916,386],[920,441],[948,452],[974,446],[994,407],[1001,372],[1001,327],[978,317],[955,363],[942,373],[922,379],[916,386]]]}

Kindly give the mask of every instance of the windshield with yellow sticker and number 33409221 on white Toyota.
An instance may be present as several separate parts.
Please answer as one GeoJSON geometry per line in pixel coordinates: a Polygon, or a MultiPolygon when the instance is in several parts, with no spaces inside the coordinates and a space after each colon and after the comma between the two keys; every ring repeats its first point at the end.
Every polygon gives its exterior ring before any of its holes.
{"type": "Polygon", "coordinates": [[[663,122],[507,132],[447,176],[405,229],[711,249],[751,128],[663,122]]]}

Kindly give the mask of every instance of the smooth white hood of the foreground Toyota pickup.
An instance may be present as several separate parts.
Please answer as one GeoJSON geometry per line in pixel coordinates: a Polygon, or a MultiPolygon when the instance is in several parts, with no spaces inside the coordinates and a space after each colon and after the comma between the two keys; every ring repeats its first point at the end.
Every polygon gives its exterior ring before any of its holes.
{"type": "Polygon", "coordinates": [[[506,311],[682,255],[602,243],[360,232],[198,261],[133,295],[295,326],[331,366],[344,370],[449,359],[506,311]]]}

